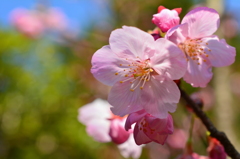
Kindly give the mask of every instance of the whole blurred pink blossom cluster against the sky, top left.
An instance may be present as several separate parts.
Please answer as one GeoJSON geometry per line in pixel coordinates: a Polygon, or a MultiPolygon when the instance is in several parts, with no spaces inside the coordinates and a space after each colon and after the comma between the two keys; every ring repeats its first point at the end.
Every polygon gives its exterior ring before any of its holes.
{"type": "Polygon", "coordinates": [[[67,18],[57,8],[17,8],[11,13],[11,22],[19,32],[30,38],[38,38],[48,29],[63,31],[67,27],[67,18]]]}

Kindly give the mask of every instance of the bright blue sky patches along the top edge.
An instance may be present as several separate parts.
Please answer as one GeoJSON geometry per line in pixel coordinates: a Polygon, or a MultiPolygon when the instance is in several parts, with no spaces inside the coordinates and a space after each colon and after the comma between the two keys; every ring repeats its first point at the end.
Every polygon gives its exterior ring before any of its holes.
{"type": "MultiPolygon", "coordinates": [[[[13,9],[17,7],[31,9],[38,1],[2,0],[0,5],[0,23],[4,25],[9,23],[9,14],[13,9]]],[[[51,6],[61,8],[69,18],[73,28],[84,28],[89,24],[89,21],[103,21],[104,18],[107,18],[110,13],[109,8],[106,6],[107,3],[99,5],[101,1],[106,2],[111,0],[48,0],[51,6]]],[[[225,0],[225,8],[227,11],[233,12],[240,21],[239,0],[225,0]]]]}

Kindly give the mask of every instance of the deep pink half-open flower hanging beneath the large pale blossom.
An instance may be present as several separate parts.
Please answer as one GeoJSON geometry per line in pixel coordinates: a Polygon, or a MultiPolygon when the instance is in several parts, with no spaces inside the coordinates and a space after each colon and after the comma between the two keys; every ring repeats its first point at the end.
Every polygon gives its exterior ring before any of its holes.
{"type": "Polygon", "coordinates": [[[128,116],[125,129],[131,129],[133,123],[136,123],[133,133],[137,145],[152,141],[163,145],[168,135],[173,133],[173,119],[170,114],[165,119],[159,119],[140,110],[128,116]]]}

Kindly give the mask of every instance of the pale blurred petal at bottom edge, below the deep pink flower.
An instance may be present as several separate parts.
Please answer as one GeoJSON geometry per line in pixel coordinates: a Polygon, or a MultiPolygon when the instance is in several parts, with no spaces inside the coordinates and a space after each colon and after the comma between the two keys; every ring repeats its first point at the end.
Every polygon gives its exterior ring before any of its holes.
{"type": "Polygon", "coordinates": [[[136,145],[133,134],[131,134],[126,142],[118,145],[120,153],[125,158],[132,157],[133,159],[138,159],[142,153],[142,146],[136,145]]]}

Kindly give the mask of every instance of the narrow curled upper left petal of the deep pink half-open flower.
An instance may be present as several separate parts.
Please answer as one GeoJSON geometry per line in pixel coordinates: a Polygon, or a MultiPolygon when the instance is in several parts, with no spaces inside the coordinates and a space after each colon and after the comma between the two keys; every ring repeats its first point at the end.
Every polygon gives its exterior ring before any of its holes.
{"type": "Polygon", "coordinates": [[[129,130],[131,129],[131,125],[133,123],[136,123],[137,121],[139,121],[141,118],[143,118],[145,115],[147,114],[147,112],[142,109],[140,111],[137,111],[135,113],[131,113],[128,115],[126,123],[125,123],[125,129],[129,130]]]}

